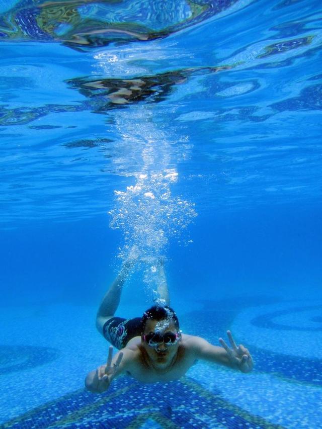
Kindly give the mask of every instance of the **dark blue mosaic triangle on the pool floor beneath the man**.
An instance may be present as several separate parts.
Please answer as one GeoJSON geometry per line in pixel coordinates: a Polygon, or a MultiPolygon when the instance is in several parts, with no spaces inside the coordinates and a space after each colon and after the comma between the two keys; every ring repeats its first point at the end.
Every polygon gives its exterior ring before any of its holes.
{"type": "Polygon", "coordinates": [[[143,385],[127,377],[101,395],[77,390],[4,424],[4,428],[40,427],[250,427],[281,428],[224,400],[195,380],[143,385]]]}

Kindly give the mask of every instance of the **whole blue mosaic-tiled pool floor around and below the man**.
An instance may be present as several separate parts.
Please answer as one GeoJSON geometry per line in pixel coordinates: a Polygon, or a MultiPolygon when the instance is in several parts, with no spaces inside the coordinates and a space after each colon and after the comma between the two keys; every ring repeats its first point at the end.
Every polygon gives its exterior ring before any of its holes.
{"type": "MultiPolygon", "coordinates": [[[[193,304],[178,312],[183,330],[218,344],[231,328],[253,354],[253,373],[199,362],[177,382],[142,385],[122,377],[93,395],[83,388],[84,376],[107,351],[94,328],[96,308],[29,308],[14,318],[5,309],[0,427],[322,427],[322,303],[193,304]]],[[[125,310],[130,317],[138,313],[120,308],[120,315],[125,310]]]]}

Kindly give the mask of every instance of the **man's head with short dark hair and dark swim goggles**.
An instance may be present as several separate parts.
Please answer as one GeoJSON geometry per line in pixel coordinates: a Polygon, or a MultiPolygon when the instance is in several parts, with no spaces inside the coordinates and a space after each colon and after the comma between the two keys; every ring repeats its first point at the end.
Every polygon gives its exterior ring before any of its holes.
{"type": "Polygon", "coordinates": [[[168,367],[174,360],[181,339],[177,314],[170,307],[153,306],[142,316],[142,345],[159,368],[168,367]]]}

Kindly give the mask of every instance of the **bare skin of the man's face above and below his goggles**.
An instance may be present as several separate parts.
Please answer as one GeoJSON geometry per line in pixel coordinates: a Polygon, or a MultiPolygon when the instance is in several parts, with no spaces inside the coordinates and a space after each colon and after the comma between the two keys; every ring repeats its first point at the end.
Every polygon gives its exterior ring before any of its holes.
{"type": "MultiPolygon", "coordinates": [[[[150,332],[157,332],[160,335],[178,330],[174,322],[170,320],[147,320],[143,334],[148,335],[150,332]]],[[[158,342],[155,347],[149,346],[147,341],[142,338],[142,345],[155,368],[165,369],[172,364],[179,347],[179,341],[173,345],[167,345],[165,342],[158,342]]]]}

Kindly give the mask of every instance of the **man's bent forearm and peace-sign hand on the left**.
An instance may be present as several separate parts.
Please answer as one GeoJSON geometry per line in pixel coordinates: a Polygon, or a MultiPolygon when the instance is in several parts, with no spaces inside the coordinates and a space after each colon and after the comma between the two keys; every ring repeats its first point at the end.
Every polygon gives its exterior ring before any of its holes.
{"type": "Polygon", "coordinates": [[[130,349],[120,350],[112,359],[113,347],[109,348],[109,356],[106,365],[101,365],[96,370],[88,373],[85,379],[85,387],[93,393],[103,393],[114,380],[124,373],[134,360],[135,352],[130,349]]]}

